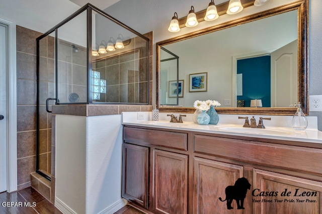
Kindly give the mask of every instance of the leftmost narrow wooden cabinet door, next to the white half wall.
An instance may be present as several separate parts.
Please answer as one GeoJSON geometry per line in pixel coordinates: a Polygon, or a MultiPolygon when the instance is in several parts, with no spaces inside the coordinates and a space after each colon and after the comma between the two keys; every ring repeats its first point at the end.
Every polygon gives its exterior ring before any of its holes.
{"type": "Polygon", "coordinates": [[[149,148],[123,144],[122,197],[147,208],[149,148]]]}

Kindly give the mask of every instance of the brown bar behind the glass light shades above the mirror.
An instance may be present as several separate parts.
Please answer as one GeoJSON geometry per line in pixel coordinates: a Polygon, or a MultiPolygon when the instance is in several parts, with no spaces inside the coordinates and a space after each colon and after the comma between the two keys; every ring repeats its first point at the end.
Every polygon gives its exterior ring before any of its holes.
{"type": "MultiPolygon", "coordinates": [[[[255,0],[240,0],[240,2],[241,2],[241,5],[243,6],[243,8],[245,9],[245,8],[250,7],[250,6],[253,6],[255,0]]],[[[228,5],[229,5],[229,1],[225,2],[225,3],[222,3],[220,5],[216,5],[217,13],[218,13],[219,16],[226,14],[228,5]]],[[[195,13],[196,17],[197,17],[197,21],[199,23],[205,21],[204,18],[205,18],[206,12],[207,12],[207,8],[205,10],[203,10],[203,11],[199,11],[199,12],[195,13]]],[[[178,19],[178,21],[179,21],[179,27],[180,28],[186,27],[185,24],[186,24],[186,21],[187,21],[187,17],[180,18],[180,19],[178,19]]]]}

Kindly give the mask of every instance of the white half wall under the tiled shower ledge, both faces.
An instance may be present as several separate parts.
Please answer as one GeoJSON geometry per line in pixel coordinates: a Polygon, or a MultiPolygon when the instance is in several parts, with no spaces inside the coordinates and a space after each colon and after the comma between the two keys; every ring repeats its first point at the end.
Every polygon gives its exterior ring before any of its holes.
{"type": "Polygon", "coordinates": [[[56,115],[55,205],[66,213],[114,213],[121,198],[121,115],[56,115]]]}

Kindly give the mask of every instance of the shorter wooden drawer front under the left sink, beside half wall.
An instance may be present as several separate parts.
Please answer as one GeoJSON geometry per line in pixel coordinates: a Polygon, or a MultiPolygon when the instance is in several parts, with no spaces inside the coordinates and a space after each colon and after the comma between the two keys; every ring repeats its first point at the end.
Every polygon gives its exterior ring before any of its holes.
{"type": "Polygon", "coordinates": [[[183,151],[188,150],[186,133],[124,127],[124,140],[183,151]]]}

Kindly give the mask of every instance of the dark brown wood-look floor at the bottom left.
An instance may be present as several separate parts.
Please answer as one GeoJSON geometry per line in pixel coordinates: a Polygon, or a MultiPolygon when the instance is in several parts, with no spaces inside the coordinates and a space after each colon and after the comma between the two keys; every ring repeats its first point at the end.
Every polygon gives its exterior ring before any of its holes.
{"type": "MultiPolygon", "coordinates": [[[[61,212],[31,187],[0,193],[0,214],[61,214],[61,212]],[[29,202],[29,203],[28,203],[29,202]]],[[[126,205],[114,214],[144,214],[130,205],[126,205]]]]}

